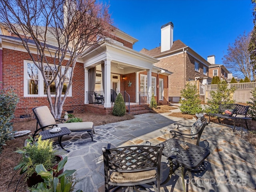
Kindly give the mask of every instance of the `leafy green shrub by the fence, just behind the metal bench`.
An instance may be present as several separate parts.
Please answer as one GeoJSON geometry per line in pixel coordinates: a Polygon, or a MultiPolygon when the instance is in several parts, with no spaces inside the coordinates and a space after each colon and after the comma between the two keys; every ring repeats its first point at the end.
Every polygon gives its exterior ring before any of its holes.
{"type": "Polygon", "coordinates": [[[211,98],[207,98],[207,103],[205,112],[209,113],[218,113],[218,108],[220,104],[232,104],[235,101],[233,100],[233,93],[236,88],[228,88],[228,83],[225,80],[222,80],[218,83],[218,90],[210,91],[211,98]]]}

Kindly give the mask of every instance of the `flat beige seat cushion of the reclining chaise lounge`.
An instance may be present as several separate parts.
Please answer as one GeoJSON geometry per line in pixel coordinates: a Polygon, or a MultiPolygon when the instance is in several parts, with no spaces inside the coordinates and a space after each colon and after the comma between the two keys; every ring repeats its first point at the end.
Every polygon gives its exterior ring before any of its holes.
{"type": "Polygon", "coordinates": [[[61,123],[58,127],[67,127],[70,131],[92,130],[93,122],[61,123]]]}

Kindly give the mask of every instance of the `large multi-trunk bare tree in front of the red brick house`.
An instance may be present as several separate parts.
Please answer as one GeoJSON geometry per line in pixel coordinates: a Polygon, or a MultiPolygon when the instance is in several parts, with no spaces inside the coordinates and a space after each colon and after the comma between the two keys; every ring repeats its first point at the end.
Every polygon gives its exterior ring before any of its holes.
{"type": "Polygon", "coordinates": [[[78,58],[98,42],[112,37],[108,8],[96,0],[0,0],[0,22],[20,38],[40,70],[55,118],[62,114],[78,58]],[[36,54],[31,42],[36,46],[36,54]],[[55,91],[54,100],[50,88],[55,91]]]}

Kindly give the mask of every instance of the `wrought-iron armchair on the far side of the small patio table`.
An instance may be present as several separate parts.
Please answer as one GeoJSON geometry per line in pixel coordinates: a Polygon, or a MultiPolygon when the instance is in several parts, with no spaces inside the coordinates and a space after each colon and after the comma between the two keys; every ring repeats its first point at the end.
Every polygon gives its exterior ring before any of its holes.
{"type": "Polygon", "coordinates": [[[202,132],[205,126],[208,125],[208,119],[201,117],[200,121],[202,122],[201,126],[193,134],[191,134],[191,129],[193,128],[194,124],[192,126],[186,126],[186,125],[174,123],[174,125],[177,125],[178,127],[173,130],[170,130],[170,134],[172,138],[177,138],[184,142],[188,142],[194,145],[199,145],[202,132]],[[180,129],[180,128],[185,128],[185,129],[180,129]]]}

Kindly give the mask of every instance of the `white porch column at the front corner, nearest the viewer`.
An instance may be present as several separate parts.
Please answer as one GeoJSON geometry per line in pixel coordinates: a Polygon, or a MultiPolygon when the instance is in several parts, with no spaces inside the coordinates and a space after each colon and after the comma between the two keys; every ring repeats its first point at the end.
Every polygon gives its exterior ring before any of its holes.
{"type": "Polygon", "coordinates": [[[104,107],[111,107],[111,60],[104,60],[104,107]]]}

